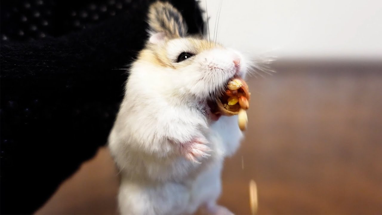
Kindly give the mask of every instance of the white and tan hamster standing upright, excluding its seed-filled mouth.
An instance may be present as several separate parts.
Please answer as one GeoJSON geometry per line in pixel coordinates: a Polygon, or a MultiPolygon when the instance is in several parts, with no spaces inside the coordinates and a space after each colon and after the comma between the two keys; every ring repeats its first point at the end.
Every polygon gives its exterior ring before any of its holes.
{"type": "Polygon", "coordinates": [[[248,62],[233,49],[188,35],[181,13],[155,2],[150,37],[133,62],[108,138],[120,170],[121,214],[233,214],[217,205],[223,160],[243,133],[237,116],[210,111],[248,62]]]}

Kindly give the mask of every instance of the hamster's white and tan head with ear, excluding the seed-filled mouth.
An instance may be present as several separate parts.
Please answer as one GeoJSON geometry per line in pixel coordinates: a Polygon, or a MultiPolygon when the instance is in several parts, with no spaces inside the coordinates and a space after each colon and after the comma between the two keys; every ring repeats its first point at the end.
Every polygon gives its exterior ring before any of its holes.
{"type": "Polygon", "coordinates": [[[176,101],[215,101],[231,79],[245,78],[241,53],[202,35],[188,35],[181,13],[170,3],[153,3],[148,23],[150,37],[135,62],[140,80],[134,81],[155,94],[176,101]]]}

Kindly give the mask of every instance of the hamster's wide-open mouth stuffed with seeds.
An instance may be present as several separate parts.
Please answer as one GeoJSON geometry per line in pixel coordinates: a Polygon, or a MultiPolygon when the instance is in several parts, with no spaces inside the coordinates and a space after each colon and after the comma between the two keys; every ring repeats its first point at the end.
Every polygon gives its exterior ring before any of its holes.
{"type": "Polygon", "coordinates": [[[228,80],[227,87],[221,95],[214,101],[207,102],[212,120],[217,120],[222,115],[234,116],[239,114],[241,109],[249,108],[251,93],[247,83],[240,77],[235,76],[228,80]]]}

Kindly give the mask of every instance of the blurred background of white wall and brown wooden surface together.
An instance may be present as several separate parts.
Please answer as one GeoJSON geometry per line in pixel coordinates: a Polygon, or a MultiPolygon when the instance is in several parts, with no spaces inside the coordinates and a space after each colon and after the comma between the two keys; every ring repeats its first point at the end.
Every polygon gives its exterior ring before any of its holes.
{"type": "MultiPolygon", "coordinates": [[[[259,214],[382,213],[382,1],[201,5],[211,38],[276,59],[248,79],[249,127],[225,162],[220,204],[251,213],[254,180],[259,214]]],[[[115,214],[117,189],[101,148],[36,214],[115,214]]]]}

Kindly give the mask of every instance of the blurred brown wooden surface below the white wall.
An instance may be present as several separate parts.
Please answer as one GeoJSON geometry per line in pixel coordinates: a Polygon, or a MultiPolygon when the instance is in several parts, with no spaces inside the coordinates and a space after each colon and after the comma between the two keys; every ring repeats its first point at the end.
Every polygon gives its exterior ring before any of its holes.
{"type": "MultiPolygon", "coordinates": [[[[251,78],[246,139],[225,162],[220,204],[249,214],[382,214],[382,66],[279,64],[251,78]],[[243,161],[243,162],[242,162],[243,161]]],[[[115,214],[102,148],[36,214],[115,214]]]]}

